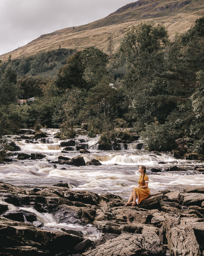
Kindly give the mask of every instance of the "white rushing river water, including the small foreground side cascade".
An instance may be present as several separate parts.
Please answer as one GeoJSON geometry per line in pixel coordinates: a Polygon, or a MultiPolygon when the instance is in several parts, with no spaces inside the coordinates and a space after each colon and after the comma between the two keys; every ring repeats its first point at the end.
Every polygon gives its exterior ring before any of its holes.
{"type": "MultiPolygon", "coordinates": [[[[138,167],[145,165],[149,176],[150,191],[151,188],[161,191],[168,187],[203,185],[204,183],[204,175],[193,169],[195,165],[204,166],[199,161],[175,159],[168,153],[137,150],[137,143],[129,144],[127,150],[121,144],[121,151],[99,151],[99,136],[93,139],[87,136],[76,136],[75,147],[64,153],[63,148],[60,148],[60,141],[54,138],[54,134],[58,131],[57,129],[44,129],[44,132],[49,135],[48,138],[32,141],[34,143],[27,143],[28,141],[23,139],[19,140],[20,136],[18,135],[12,136],[11,139],[21,148],[18,153],[43,153],[46,158],[17,160],[17,155],[14,155],[12,157],[13,162],[0,165],[0,180],[24,188],[53,185],[63,181],[72,184],[73,190],[87,190],[99,194],[109,192],[127,198],[132,188],[138,184],[138,167]],[[89,154],[80,154],[79,151],[76,151],[76,146],[80,143],[85,144],[85,147],[90,151],[89,154]],[[98,159],[102,165],[75,167],[56,164],[54,166],[51,162],[57,161],[58,156],[69,158],[82,156],[86,162],[91,159],[98,159]],[[185,171],[165,172],[166,168],[174,165],[183,167],[185,171]],[[63,170],[62,168],[66,169],[63,170]],[[162,169],[162,172],[152,173],[151,168],[162,169]]],[[[32,139],[32,135],[30,138],[32,139]]],[[[67,226],[68,224],[57,223],[54,219],[45,220],[47,216],[44,214],[44,217],[40,217],[39,214],[41,213],[38,213],[38,219],[43,220],[44,226],[71,228],[71,226],[67,226]]],[[[93,227],[89,227],[91,230],[88,227],[77,225],[73,228],[83,229],[83,232],[92,234],[95,238],[98,236],[93,227]]]]}

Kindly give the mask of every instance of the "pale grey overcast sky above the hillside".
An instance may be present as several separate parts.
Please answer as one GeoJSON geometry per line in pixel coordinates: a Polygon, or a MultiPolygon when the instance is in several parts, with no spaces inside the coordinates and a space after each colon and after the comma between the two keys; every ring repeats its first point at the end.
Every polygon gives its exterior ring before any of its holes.
{"type": "Polygon", "coordinates": [[[136,0],[0,0],[0,55],[40,35],[101,19],[136,0]]]}

